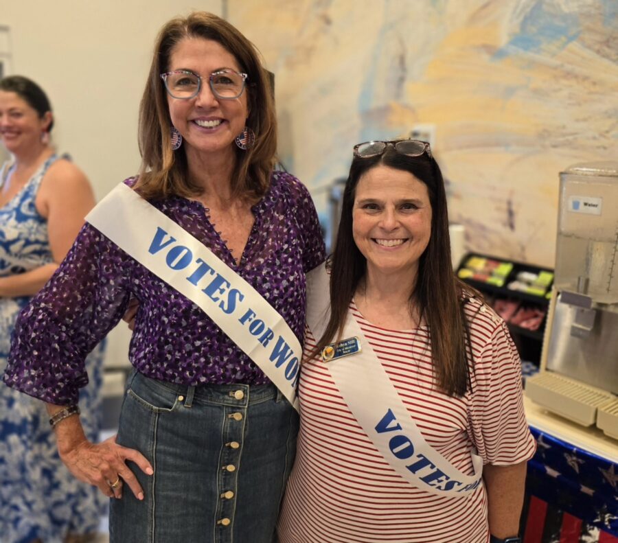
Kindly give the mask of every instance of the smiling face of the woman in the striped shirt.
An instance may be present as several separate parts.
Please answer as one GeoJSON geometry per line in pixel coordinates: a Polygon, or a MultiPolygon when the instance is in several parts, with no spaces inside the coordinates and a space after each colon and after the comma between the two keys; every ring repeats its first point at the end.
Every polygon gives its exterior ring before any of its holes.
{"type": "Polygon", "coordinates": [[[374,279],[415,279],[431,237],[427,186],[409,172],[377,165],[358,180],[352,209],[354,242],[374,279]]]}

